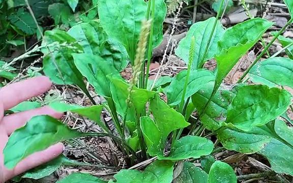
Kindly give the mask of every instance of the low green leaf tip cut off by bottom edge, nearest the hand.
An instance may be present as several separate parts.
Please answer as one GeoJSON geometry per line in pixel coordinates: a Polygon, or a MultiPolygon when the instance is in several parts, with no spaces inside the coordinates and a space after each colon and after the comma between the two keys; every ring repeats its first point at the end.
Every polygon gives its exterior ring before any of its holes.
{"type": "Polygon", "coordinates": [[[86,173],[72,173],[56,183],[107,183],[107,181],[86,173]]]}

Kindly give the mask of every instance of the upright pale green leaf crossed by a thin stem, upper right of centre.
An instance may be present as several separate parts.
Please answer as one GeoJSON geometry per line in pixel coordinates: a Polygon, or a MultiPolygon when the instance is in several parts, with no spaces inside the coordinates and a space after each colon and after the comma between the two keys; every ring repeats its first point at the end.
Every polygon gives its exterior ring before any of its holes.
{"type": "Polygon", "coordinates": [[[203,54],[206,50],[206,47],[208,46],[208,40],[212,33],[215,20],[216,18],[212,17],[208,20],[194,23],[187,32],[186,37],[179,42],[178,48],[175,50],[175,54],[181,57],[184,62],[188,64],[189,55],[187,53],[189,53],[190,50],[191,38],[193,36],[195,37],[196,44],[192,62],[193,69],[200,68],[206,60],[215,56],[218,47],[218,41],[224,34],[224,28],[219,21],[217,21],[217,26],[208,49],[207,56],[206,58],[203,58],[203,54]]]}

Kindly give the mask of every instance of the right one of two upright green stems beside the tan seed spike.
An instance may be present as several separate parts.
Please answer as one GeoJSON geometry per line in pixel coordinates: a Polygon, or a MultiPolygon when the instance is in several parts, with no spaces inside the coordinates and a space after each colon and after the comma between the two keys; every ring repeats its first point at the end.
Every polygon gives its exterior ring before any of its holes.
{"type": "MultiPolygon", "coordinates": [[[[150,0],[151,1],[151,0],[150,0]]],[[[155,0],[152,0],[149,5],[152,4],[152,20],[155,18],[155,0]]],[[[149,17],[148,17],[149,19],[149,17]]],[[[151,59],[152,59],[152,52],[153,52],[153,34],[154,34],[154,21],[152,21],[151,24],[151,32],[150,32],[150,39],[149,39],[149,46],[148,46],[148,64],[147,64],[147,74],[145,75],[145,82],[144,82],[144,88],[148,87],[148,81],[149,81],[149,73],[150,73],[150,65],[151,65],[151,59]]]]}

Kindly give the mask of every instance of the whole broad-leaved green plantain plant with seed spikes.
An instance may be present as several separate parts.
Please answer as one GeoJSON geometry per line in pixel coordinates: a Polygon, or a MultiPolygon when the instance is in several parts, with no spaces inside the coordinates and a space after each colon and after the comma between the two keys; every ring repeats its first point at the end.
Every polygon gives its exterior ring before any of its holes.
{"type": "MultiPolygon", "coordinates": [[[[290,1],[285,3],[293,9],[290,1]]],[[[290,13],[287,25],[293,20],[290,13]]],[[[103,133],[72,130],[50,116],[33,117],[10,136],[4,149],[7,168],[60,141],[108,136],[130,160],[129,166],[150,157],[157,160],[144,171],[120,170],[109,181],[74,173],[58,182],[237,182],[232,167],[224,162],[202,164],[201,169],[187,161],[203,162],[221,150],[211,141],[210,137],[216,136],[225,149],[260,154],[276,173],[293,175],[293,130],[280,120],[288,120],[284,113],[292,104],[291,94],[283,87],[293,88],[293,60],[274,56],[259,61],[285,27],[263,49],[239,84],[227,88],[222,84],[224,78],[274,23],[254,18],[224,29],[218,21],[219,13],[216,18],[196,22],[175,50],[188,69],[173,78],[152,81],[148,66],[152,50],[163,38],[164,1],[100,0],[98,14],[98,20],[77,24],[68,32],[45,32],[42,44],[49,46],[42,52],[44,73],[54,83],[74,84],[93,102],[90,107],[60,102],[50,107],[87,117],[103,133]],[[213,72],[203,68],[212,58],[217,61],[213,72]],[[120,75],[128,62],[133,70],[129,82],[120,75]],[[84,78],[105,103],[96,104],[84,78]],[[161,99],[162,93],[166,101],[161,99]],[[102,110],[111,114],[117,133],[101,120],[102,110]],[[196,120],[191,117],[194,111],[196,120]],[[205,129],[211,133],[201,137],[205,129]],[[175,175],[176,165],[182,171],[175,175]]],[[[68,164],[74,162],[64,157],[50,162],[54,170],[68,164]]],[[[44,173],[40,172],[46,172],[46,167],[24,177],[41,178],[44,173]]]]}

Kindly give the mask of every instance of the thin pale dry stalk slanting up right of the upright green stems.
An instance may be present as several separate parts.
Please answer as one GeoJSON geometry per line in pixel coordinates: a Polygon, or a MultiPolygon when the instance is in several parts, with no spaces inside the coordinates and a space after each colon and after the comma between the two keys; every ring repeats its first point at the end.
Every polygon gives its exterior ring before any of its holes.
{"type": "Polygon", "coordinates": [[[151,90],[153,90],[153,88],[154,88],[154,86],[155,86],[155,84],[156,84],[156,81],[158,80],[158,77],[159,77],[160,71],[161,71],[160,68],[163,66],[163,63],[165,62],[165,59],[166,59],[166,56],[167,56],[167,51],[168,51],[168,48],[169,48],[170,43],[171,43],[172,35],[175,33],[175,29],[176,29],[176,27],[177,27],[177,20],[178,20],[178,16],[179,16],[179,14],[180,14],[180,12],[181,12],[182,5],[183,5],[183,2],[180,2],[180,6],[179,6],[179,8],[178,8],[178,11],[177,11],[177,13],[176,13],[176,15],[175,15],[175,17],[174,17],[174,23],[173,23],[173,26],[172,26],[172,31],[171,31],[171,33],[170,33],[170,35],[169,35],[168,43],[167,43],[167,46],[166,46],[166,49],[165,49],[165,52],[164,52],[164,55],[163,55],[163,58],[162,58],[162,61],[161,61],[161,65],[160,65],[159,70],[158,70],[158,72],[157,72],[157,74],[156,74],[156,77],[155,77],[155,80],[154,80],[154,82],[153,82],[153,84],[152,84],[151,90]]]}

